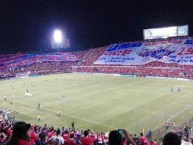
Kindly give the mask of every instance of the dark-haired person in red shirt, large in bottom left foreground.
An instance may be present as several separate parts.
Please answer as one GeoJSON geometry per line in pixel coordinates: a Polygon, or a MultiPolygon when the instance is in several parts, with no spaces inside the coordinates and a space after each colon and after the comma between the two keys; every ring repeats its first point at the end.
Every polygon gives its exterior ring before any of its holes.
{"type": "Polygon", "coordinates": [[[30,145],[30,124],[17,122],[13,127],[13,133],[6,145],[30,145]]]}

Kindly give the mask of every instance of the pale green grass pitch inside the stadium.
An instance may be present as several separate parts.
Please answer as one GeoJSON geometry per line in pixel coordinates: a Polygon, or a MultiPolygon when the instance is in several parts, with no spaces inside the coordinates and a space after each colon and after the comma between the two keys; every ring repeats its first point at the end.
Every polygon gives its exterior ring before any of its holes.
{"type": "Polygon", "coordinates": [[[58,74],[0,81],[0,96],[0,107],[19,112],[16,119],[56,127],[75,122],[78,129],[125,128],[138,133],[157,129],[165,120],[179,124],[193,117],[193,84],[177,80],[58,74]],[[26,89],[33,96],[26,96],[26,89]]]}

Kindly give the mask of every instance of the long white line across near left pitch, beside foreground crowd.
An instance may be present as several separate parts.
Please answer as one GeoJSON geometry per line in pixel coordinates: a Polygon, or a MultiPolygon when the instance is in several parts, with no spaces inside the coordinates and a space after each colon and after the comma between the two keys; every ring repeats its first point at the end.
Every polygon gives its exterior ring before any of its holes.
{"type": "MultiPolygon", "coordinates": [[[[28,106],[34,107],[33,105],[30,105],[30,104],[27,104],[27,103],[22,103],[22,102],[19,102],[19,101],[14,101],[14,102],[17,102],[17,103],[20,103],[20,104],[24,104],[24,105],[28,105],[28,106]]],[[[56,113],[56,112],[57,112],[57,111],[50,110],[50,109],[45,109],[45,108],[41,108],[41,109],[46,110],[46,111],[50,111],[50,112],[53,112],[53,113],[56,113]]],[[[79,120],[83,120],[83,121],[86,121],[86,122],[90,122],[90,123],[93,123],[93,124],[98,124],[98,125],[101,125],[101,126],[104,126],[104,127],[111,128],[111,129],[117,129],[116,127],[108,126],[108,125],[105,125],[105,124],[101,124],[101,123],[98,123],[98,122],[95,122],[95,121],[91,121],[91,120],[88,120],[88,119],[76,117],[76,116],[73,116],[73,115],[68,115],[68,114],[64,114],[64,115],[65,115],[65,116],[68,116],[68,117],[71,117],[71,118],[76,118],[76,119],[79,119],[79,120]]]]}

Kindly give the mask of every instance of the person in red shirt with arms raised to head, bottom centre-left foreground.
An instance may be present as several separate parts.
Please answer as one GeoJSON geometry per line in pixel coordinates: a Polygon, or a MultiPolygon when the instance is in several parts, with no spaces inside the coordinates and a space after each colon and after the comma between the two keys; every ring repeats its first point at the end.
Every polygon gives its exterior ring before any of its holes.
{"type": "Polygon", "coordinates": [[[84,137],[81,138],[81,145],[92,145],[96,139],[96,134],[92,130],[85,130],[84,137]],[[92,137],[89,136],[89,132],[92,133],[92,137]]]}

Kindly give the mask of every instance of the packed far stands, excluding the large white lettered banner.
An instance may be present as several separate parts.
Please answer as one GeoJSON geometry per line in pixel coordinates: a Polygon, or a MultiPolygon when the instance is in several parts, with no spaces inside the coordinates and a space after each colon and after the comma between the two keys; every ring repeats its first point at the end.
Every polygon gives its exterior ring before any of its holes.
{"type": "MultiPolygon", "coordinates": [[[[154,42],[150,43],[153,44],[154,42]]],[[[155,41],[155,43],[161,44],[161,41],[155,41]]],[[[158,46],[160,47],[160,45],[158,46]]],[[[160,61],[151,61],[142,65],[95,64],[108,48],[109,46],[104,46],[86,51],[58,52],[44,55],[0,55],[0,78],[15,77],[16,74],[27,72],[39,75],[86,72],[193,79],[193,65],[180,65],[178,63],[164,63],[160,61]]],[[[189,48],[187,52],[185,51],[182,54],[186,53],[192,54],[193,51],[189,48]]],[[[146,58],[144,57],[144,59],[146,58]]]]}

